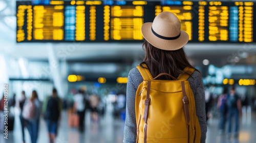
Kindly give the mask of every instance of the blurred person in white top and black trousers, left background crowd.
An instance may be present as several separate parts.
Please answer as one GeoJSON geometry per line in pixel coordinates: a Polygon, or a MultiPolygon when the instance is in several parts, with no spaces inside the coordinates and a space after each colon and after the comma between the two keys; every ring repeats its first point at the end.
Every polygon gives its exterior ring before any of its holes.
{"type": "Polygon", "coordinates": [[[74,112],[79,115],[79,131],[84,130],[84,115],[86,112],[86,99],[84,97],[84,91],[79,89],[78,93],[74,96],[74,112]]]}

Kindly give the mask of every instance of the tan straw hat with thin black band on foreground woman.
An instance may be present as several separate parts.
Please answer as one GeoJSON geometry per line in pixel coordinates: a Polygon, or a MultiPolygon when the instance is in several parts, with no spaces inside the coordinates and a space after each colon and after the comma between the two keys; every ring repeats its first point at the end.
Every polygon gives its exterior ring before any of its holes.
{"type": "Polygon", "coordinates": [[[180,30],[179,18],[167,11],[158,14],[153,22],[144,23],[141,33],[152,45],[167,51],[181,49],[188,42],[187,33],[180,30]]]}

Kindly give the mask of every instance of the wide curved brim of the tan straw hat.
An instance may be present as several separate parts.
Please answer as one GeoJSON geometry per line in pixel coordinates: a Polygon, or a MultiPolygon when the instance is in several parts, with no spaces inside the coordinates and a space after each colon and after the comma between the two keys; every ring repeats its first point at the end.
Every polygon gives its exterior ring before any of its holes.
{"type": "Polygon", "coordinates": [[[167,50],[174,51],[181,49],[188,42],[188,34],[181,30],[180,37],[175,40],[165,40],[157,37],[151,30],[152,22],[146,22],[141,26],[141,33],[143,37],[155,47],[167,50]]]}

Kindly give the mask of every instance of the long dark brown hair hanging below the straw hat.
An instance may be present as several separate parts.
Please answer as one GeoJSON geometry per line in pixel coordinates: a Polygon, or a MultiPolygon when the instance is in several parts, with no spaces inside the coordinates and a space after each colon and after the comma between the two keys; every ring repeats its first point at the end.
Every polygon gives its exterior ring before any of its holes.
{"type": "MultiPolygon", "coordinates": [[[[161,73],[167,73],[174,76],[175,78],[178,78],[186,66],[193,67],[188,62],[183,48],[175,51],[165,51],[158,49],[146,40],[144,41],[142,47],[146,52],[142,63],[145,63],[148,66],[148,69],[150,70],[150,73],[153,77],[156,77],[161,73]]],[[[142,63],[140,63],[141,67],[143,67],[142,63]]],[[[191,75],[192,73],[186,72],[186,74],[191,75]]],[[[173,80],[168,76],[161,76],[158,79],[173,80]]]]}

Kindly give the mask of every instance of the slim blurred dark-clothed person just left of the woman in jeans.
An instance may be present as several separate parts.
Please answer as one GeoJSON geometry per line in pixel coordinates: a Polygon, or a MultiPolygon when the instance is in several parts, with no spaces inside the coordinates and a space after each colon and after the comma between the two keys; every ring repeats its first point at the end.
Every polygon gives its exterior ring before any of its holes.
{"type": "Polygon", "coordinates": [[[23,140],[24,143],[25,143],[24,128],[25,128],[25,125],[26,125],[26,121],[25,121],[25,118],[22,116],[22,114],[23,114],[23,108],[24,108],[25,102],[26,102],[25,91],[22,91],[22,98],[18,101],[18,108],[20,110],[19,119],[20,119],[20,124],[22,125],[22,140],[23,140]]]}

